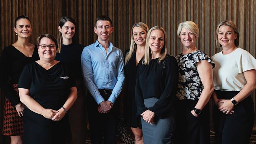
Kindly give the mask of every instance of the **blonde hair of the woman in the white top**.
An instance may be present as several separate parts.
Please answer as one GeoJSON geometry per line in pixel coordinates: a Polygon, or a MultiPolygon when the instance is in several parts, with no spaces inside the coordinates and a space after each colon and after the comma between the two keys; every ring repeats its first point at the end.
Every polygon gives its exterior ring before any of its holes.
{"type": "Polygon", "coordinates": [[[219,28],[221,26],[230,26],[230,28],[232,28],[232,30],[235,32],[235,34],[237,35],[236,39],[235,39],[235,46],[239,46],[239,32],[237,30],[236,24],[232,21],[232,20],[224,20],[223,22],[219,23],[219,25],[217,26],[217,29],[215,31],[215,43],[216,43],[216,48],[220,48],[221,44],[219,43],[218,40],[218,33],[219,33],[219,28]]]}

